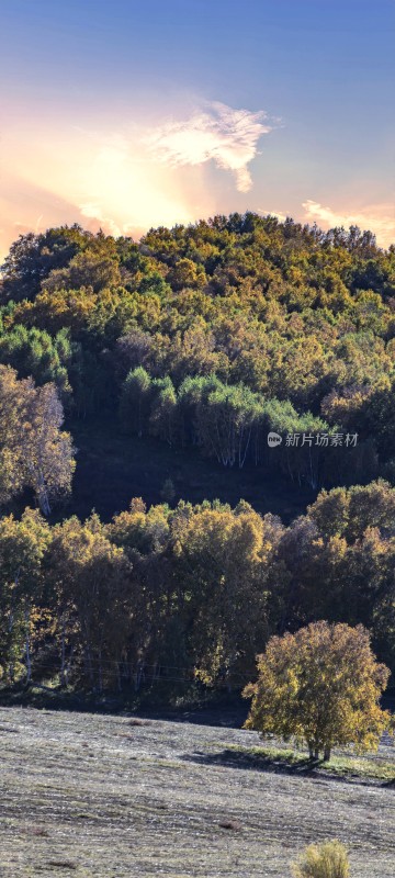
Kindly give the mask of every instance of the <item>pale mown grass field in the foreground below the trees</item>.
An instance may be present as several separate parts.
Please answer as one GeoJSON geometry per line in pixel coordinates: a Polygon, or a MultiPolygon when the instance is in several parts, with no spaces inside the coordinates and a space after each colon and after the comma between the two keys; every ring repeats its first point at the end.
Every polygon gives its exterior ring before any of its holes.
{"type": "Polygon", "coordinates": [[[325,837],[349,846],[352,878],[394,878],[390,742],[312,772],[202,722],[1,708],[2,878],[287,878],[325,837]]]}

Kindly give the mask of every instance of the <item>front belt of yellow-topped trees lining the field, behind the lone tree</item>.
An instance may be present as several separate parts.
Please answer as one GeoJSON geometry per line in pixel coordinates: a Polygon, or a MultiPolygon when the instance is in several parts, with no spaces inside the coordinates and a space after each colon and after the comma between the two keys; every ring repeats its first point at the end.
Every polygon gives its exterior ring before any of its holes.
{"type": "Polygon", "coordinates": [[[3,680],[241,689],[273,634],[364,624],[395,671],[395,489],[323,492],[290,527],[240,502],[142,499],[105,525],[0,520],[3,680]]]}

